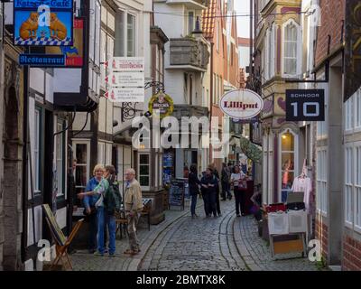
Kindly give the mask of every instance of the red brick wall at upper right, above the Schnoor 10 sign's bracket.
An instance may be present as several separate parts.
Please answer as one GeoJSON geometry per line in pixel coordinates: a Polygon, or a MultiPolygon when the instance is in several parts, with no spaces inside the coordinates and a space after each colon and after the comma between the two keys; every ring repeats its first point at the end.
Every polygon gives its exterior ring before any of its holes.
{"type": "Polygon", "coordinates": [[[341,44],[345,2],[346,0],[319,0],[321,25],[317,40],[316,66],[327,57],[329,35],[331,36],[331,53],[338,49],[341,44]]]}

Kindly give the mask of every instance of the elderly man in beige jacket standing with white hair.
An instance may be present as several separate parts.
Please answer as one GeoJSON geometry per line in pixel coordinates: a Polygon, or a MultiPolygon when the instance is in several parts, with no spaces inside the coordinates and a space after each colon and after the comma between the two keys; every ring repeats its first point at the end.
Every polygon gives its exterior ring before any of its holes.
{"type": "Polygon", "coordinates": [[[142,190],[138,181],[135,180],[134,169],[125,171],[125,217],[128,219],[129,247],[125,254],[135,255],[140,252],[139,242],[136,238],[136,225],[140,213],[143,210],[142,190]]]}

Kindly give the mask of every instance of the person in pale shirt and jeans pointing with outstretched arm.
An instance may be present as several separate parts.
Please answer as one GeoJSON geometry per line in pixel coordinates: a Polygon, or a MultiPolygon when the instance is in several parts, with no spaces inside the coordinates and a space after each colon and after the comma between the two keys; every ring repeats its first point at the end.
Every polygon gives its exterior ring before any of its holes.
{"type": "Polygon", "coordinates": [[[97,196],[95,206],[97,208],[97,252],[95,255],[104,256],[105,253],[105,228],[108,229],[109,234],[109,256],[115,256],[116,253],[116,218],[114,214],[108,214],[104,200],[106,192],[110,188],[110,184],[115,181],[116,169],[113,165],[107,165],[105,173],[97,187],[93,191],[80,193],[79,195],[97,196]]]}

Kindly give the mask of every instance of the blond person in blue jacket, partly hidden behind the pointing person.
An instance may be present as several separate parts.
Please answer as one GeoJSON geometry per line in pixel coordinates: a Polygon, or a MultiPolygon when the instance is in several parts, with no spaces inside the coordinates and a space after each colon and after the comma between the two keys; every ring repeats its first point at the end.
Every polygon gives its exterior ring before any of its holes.
{"type": "MultiPolygon", "coordinates": [[[[88,183],[85,191],[94,191],[97,188],[99,182],[103,179],[104,167],[102,164],[97,164],[94,167],[93,175],[88,183]]],[[[80,195],[81,197],[81,195],[80,195]]],[[[97,251],[97,209],[96,202],[98,195],[84,195],[83,203],[85,207],[84,214],[89,218],[89,232],[88,232],[88,251],[90,254],[94,254],[97,251]]]]}

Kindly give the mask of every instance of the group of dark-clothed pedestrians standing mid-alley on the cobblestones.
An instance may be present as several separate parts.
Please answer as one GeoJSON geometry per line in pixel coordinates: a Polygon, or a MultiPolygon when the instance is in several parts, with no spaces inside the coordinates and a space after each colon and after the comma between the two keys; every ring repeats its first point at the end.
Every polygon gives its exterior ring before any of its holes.
{"type": "Polygon", "coordinates": [[[232,200],[232,190],[235,195],[236,216],[245,216],[245,191],[249,178],[245,172],[240,170],[239,165],[233,166],[232,163],[223,163],[219,178],[216,166],[214,163],[211,163],[206,172],[202,172],[202,177],[199,180],[197,165],[192,164],[187,177],[190,189],[190,213],[192,219],[198,217],[196,205],[199,193],[204,202],[206,217],[210,218],[213,216],[217,218],[222,215],[219,197],[221,196],[222,200],[232,200]]]}

